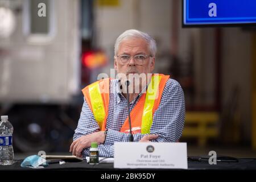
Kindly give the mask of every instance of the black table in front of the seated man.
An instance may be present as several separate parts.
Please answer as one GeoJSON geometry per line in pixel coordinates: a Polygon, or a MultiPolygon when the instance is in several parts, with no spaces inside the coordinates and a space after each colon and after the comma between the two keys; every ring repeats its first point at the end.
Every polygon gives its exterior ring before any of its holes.
{"type": "MultiPolygon", "coordinates": [[[[231,176],[233,178],[236,178],[237,175],[245,172],[250,172],[251,175],[254,175],[256,171],[256,159],[238,159],[238,162],[217,162],[216,165],[210,165],[208,162],[198,162],[198,161],[191,161],[188,160],[188,169],[117,169],[114,168],[113,163],[100,163],[96,165],[91,165],[86,162],[86,160],[82,162],[67,162],[64,165],[60,164],[49,164],[48,167],[42,168],[42,169],[32,169],[32,168],[22,168],[20,167],[20,163],[22,163],[22,160],[18,160],[15,164],[11,166],[0,166],[0,175],[1,172],[5,173],[5,176],[10,176],[9,173],[12,172],[18,172],[19,176],[27,177],[31,175],[31,171],[36,172],[36,176],[38,177],[37,173],[41,172],[50,172],[57,174],[57,179],[59,181],[59,177],[67,178],[73,180],[73,176],[87,176],[87,175],[93,175],[96,179],[101,180],[102,177],[106,177],[106,175],[120,175],[123,177],[122,180],[127,181],[126,177],[129,174],[135,174],[135,173],[150,173],[155,174],[155,179],[158,179],[158,177],[161,177],[166,179],[166,177],[171,176],[177,176],[179,178],[188,177],[188,176],[211,176],[211,178],[214,177],[220,177],[218,174],[225,174],[229,176],[229,179],[231,176]],[[61,175],[60,175],[61,173],[61,175]],[[73,175],[69,175],[72,173],[73,175]],[[232,175],[231,175],[232,174],[232,175]]],[[[2,175],[1,175],[2,176],[2,175]]],[[[47,176],[47,175],[46,175],[47,176]]],[[[55,176],[55,177],[56,177],[55,176]]],[[[245,176],[242,174],[242,176],[245,176]]],[[[247,173],[246,173],[246,176],[247,173]]],[[[23,178],[24,178],[23,177],[23,178]]],[[[44,175],[40,175],[40,177],[44,177],[44,175]]],[[[134,176],[133,176],[134,177],[134,176]]],[[[205,178],[201,177],[205,180],[205,178]]],[[[155,180],[154,179],[154,180],[155,180]]],[[[216,178],[217,179],[217,178],[216,178]]],[[[119,179],[118,181],[120,181],[119,179]]],[[[133,179],[134,180],[134,179],[133,179]]],[[[152,179],[151,179],[152,180],[152,179]]],[[[112,181],[117,181],[113,180],[112,181]]],[[[150,181],[150,179],[147,179],[147,181],[150,181]]]]}

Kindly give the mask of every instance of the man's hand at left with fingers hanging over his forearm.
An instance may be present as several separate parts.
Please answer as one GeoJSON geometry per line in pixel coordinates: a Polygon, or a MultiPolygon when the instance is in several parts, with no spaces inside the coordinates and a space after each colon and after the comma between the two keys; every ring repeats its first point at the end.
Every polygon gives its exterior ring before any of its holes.
{"type": "Polygon", "coordinates": [[[92,134],[84,135],[80,138],[77,138],[71,144],[69,148],[69,152],[72,152],[72,155],[76,155],[81,157],[81,152],[84,148],[90,147],[91,142],[97,142],[98,144],[104,143],[105,141],[105,133],[104,131],[94,132],[92,134]]]}

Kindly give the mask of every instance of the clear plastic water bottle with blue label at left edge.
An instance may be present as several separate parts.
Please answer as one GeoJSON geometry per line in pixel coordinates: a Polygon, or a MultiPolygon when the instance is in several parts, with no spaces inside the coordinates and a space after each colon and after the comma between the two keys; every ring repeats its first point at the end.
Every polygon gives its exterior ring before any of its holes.
{"type": "Polygon", "coordinates": [[[14,163],[13,125],[8,121],[8,115],[1,115],[0,122],[0,165],[14,163]]]}

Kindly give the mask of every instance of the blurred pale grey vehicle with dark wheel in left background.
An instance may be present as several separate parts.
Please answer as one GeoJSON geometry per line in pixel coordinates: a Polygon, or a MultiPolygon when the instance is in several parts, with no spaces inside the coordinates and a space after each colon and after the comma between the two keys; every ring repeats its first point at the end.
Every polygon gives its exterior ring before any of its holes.
{"type": "Polygon", "coordinates": [[[82,101],[79,3],[0,1],[0,114],[13,123],[16,151],[61,151],[72,139],[82,101]]]}

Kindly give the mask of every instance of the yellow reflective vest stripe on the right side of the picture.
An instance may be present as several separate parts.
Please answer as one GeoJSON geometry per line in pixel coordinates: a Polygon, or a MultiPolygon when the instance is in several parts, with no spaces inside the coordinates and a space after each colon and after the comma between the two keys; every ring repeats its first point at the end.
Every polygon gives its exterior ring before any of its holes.
{"type": "Polygon", "coordinates": [[[149,134],[150,128],[153,122],[153,107],[155,104],[156,97],[159,97],[159,82],[162,76],[154,75],[151,78],[151,82],[148,85],[146,99],[142,114],[142,122],[141,122],[141,133],[149,134]]]}

